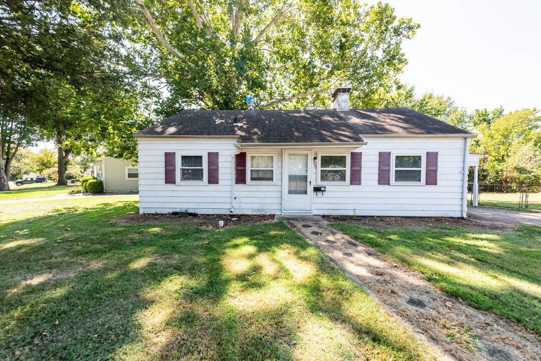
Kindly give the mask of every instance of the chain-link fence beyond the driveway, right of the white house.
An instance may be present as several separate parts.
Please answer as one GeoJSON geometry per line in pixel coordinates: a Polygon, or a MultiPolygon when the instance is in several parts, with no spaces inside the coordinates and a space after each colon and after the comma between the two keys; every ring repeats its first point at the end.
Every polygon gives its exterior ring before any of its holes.
{"type": "MultiPolygon", "coordinates": [[[[469,204],[473,204],[473,183],[468,183],[469,204]]],[[[541,185],[479,183],[479,206],[541,209],[541,185]]]]}

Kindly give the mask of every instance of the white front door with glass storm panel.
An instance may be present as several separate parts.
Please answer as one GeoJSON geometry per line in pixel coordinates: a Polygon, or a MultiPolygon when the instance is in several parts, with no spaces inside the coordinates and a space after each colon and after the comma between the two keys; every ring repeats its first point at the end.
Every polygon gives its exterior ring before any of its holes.
{"type": "Polygon", "coordinates": [[[312,152],[285,150],[283,153],[283,211],[312,212],[312,152]]]}

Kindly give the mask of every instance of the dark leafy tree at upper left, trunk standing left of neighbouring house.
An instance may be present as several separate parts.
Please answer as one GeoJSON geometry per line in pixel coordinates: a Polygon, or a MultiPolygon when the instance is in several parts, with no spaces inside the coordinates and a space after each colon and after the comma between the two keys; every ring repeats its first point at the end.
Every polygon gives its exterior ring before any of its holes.
{"type": "MultiPolygon", "coordinates": [[[[0,62],[0,111],[23,116],[56,141],[58,184],[65,183],[72,152],[96,147],[103,134],[122,130],[111,125],[119,121],[110,107],[119,101],[110,101],[111,94],[141,94],[136,67],[119,65],[129,62],[122,32],[133,5],[132,0],[0,0],[0,58],[10,60],[0,62]],[[99,110],[109,114],[96,114],[99,110]]],[[[130,111],[138,113],[134,104],[130,111]]]]}

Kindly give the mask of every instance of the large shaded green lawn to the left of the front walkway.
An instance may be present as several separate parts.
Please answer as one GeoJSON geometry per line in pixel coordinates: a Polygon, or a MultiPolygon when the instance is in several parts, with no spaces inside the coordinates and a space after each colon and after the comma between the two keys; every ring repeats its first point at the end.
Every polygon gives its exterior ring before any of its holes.
{"type": "Polygon", "coordinates": [[[0,359],[435,359],[285,224],[111,222],[136,197],[2,207],[0,359]]]}

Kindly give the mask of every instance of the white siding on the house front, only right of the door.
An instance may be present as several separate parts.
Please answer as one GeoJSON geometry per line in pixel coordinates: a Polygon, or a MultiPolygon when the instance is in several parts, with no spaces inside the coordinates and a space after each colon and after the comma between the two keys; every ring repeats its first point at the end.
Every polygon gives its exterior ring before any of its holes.
{"type": "MultiPolygon", "coordinates": [[[[464,138],[363,138],[361,185],[326,185],[314,193],[314,214],[461,216],[464,138]],[[379,152],[438,152],[438,185],[378,185],[379,152]]],[[[425,169],[423,168],[423,172],[425,169]]]]}

